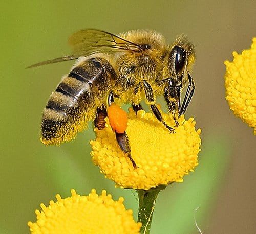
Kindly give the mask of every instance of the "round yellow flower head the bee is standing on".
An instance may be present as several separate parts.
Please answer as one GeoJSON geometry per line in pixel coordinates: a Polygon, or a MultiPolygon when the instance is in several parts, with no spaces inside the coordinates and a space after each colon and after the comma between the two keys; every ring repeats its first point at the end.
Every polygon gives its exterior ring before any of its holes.
{"type": "MultiPolygon", "coordinates": [[[[128,118],[126,133],[137,168],[118,146],[108,118],[103,130],[95,129],[96,139],[91,141],[93,162],[116,186],[148,190],[182,182],[183,176],[198,165],[201,130],[195,130],[193,118],[185,121],[182,115],[175,133],[143,110],[136,115],[130,109],[128,118]]],[[[170,126],[175,125],[168,114],[163,114],[163,118],[170,126]]]]}

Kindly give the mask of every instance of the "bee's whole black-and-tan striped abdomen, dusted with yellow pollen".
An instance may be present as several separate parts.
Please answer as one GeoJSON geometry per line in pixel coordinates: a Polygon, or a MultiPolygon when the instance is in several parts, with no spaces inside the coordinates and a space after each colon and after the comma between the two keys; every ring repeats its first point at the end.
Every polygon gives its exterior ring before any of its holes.
{"type": "Polygon", "coordinates": [[[73,139],[95,118],[105,102],[115,72],[102,58],[82,58],[52,92],[42,115],[41,141],[60,144],[73,139]]]}

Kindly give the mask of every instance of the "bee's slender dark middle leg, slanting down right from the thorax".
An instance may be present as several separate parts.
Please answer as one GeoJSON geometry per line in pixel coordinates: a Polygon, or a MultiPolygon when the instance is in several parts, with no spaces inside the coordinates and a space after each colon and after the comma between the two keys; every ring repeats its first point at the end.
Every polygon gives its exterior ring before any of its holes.
{"type": "Polygon", "coordinates": [[[156,100],[155,100],[155,97],[154,97],[154,93],[153,93],[153,89],[151,87],[151,85],[146,81],[144,80],[143,81],[143,84],[144,84],[144,90],[145,90],[145,95],[146,95],[146,100],[148,103],[150,103],[150,108],[152,110],[152,112],[155,114],[156,118],[162,122],[162,124],[170,130],[170,132],[174,132],[174,129],[170,126],[168,126],[164,120],[163,120],[163,117],[162,117],[162,114],[160,113],[159,109],[157,108],[156,106],[156,100]]]}

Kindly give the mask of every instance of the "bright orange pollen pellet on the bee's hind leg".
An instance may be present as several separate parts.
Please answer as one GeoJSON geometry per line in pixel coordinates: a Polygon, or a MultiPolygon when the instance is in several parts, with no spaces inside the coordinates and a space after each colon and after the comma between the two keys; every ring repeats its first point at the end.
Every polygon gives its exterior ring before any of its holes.
{"type": "Polygon", "coordinates": [[[127,113],[116,104],[112,103],[108,108],[108,118],[113,131],[124,133],[127,128],[127,113]]]}

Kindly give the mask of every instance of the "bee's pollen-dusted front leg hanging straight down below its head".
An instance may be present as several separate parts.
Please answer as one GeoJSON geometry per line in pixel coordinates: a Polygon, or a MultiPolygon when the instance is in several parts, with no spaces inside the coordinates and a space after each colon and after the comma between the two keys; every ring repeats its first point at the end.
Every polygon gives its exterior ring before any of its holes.
{"type": "Polygon", "coordinates": [[[164,99],[167,103],[170,113],[172,113],[176,127],[179,126],[177,115],[180,109],[180,88],[181,85],[175,85],[174,81],[169,79],[168,87],[164,89],[164,99]]]}

